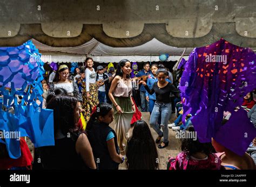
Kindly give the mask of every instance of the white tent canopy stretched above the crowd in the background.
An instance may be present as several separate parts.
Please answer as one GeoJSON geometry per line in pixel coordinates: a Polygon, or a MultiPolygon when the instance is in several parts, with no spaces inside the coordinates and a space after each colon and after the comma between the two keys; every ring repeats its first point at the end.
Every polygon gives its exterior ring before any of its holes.
{"type": "MultiPolygon", "coordinates": [[[[93,57],[93,60],[97,62],[119,62],[122,59],[145,62],[159,61],[160,54],[169,54],[167,61],[176,61],[184,51],[184,48],[171,47],[157,39],[152,39],[137,47],[110,47],[96,39],[77,47],[50,47],[35,39],[32,41],[42,53],[44,62],[84,62],[87,56],[93,57]]],[[[186,48],[184,53],[186,60],[192,50],[193,48],[186,48]]]]}

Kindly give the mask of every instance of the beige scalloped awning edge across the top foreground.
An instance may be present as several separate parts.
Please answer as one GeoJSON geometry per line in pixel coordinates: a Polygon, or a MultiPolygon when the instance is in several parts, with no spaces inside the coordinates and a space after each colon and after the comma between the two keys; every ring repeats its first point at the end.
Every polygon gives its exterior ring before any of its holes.
{"type": "Polygon", "coordinates": [[[126,0],[0,2],[0,46],[30,38],[72,47],[96,38],[133,47],[157,38],[176,47],[199,47],[223,37],[256,47],[256,1],[126,0]]]}

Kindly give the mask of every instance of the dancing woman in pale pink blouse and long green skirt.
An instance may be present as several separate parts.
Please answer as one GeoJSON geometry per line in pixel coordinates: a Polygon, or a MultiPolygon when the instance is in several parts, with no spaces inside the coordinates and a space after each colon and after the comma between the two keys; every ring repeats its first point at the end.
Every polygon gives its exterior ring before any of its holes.
{"type": "Polygon", "coordinates": [[[109,98],[113,103],[114,109],[114,131],[117,133],[117,142],[121,153],[124,155],[131,127],[131,119],[135,105],[131,98],[132,82],[130,79],[131,63],[129,60],[121,60],[117,65],[116,76],[114,77],[109,90],[109,98]]]}

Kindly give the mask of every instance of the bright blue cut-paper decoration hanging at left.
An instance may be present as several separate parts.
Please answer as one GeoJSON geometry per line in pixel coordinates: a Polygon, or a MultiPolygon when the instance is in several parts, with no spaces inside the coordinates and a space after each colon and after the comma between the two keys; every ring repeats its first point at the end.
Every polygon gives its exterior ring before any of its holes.
{"type": "MultiPolygon", "coordinates": [[[[41,54],[31,40],[18,47],[0,47],[0,96],[3,96],[0,97],[0,130],[29,136],[35,147],[55,145],[53,111],[42,109],[43,65],[41,54]],[[23,97],[21,104],[17,103],[15,95],[23,97]],[[11,107],[15,114],[8,112],[11,107]]],[[[0,142],[5,143],[12,159],[21,156],[19,140],[0,138],[0,142]]]]}

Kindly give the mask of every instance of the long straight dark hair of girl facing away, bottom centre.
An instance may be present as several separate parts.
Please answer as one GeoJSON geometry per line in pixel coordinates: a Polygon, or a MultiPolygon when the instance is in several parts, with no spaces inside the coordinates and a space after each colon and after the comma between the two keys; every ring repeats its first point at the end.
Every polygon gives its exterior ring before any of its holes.
{"type": "Polygon", "coordinates": [[[134,123],[132,137],[127,142],[128,169],[158,169],[158,153],[150,128],[143,120],[134,123]]]}

